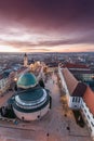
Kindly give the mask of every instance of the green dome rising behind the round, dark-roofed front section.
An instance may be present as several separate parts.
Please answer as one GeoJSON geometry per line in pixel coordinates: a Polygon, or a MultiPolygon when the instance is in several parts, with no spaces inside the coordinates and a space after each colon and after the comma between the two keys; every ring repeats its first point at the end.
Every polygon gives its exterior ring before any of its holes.
{"type": "Polygon", "coordinates": [[[37,85],[37,79],[35,75],[31,73],[23,74],[17,80],[18,88],[28,89],[35,87],[36,85],[37,85]]]}

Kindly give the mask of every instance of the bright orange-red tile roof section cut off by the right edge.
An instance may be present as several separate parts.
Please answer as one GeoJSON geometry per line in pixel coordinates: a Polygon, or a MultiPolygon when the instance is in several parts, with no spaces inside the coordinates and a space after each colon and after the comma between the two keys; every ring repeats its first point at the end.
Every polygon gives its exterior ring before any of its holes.
{"type": "Polygon", "coordinates": [[[91,90],[90,87],[86,87],[83,100],[90,108],[91,113],[94,115],[94,92],[91,90]]]}

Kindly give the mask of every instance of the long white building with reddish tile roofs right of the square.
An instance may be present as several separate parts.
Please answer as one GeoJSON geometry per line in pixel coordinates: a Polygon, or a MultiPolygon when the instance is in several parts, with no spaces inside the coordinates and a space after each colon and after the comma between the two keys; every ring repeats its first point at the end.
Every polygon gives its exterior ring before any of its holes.
{"type": "Polygon", "coordinates": [[[81,111],[91,136],[94,138],[94,92],[89,86],[78,81],[68,68],[58,66],[58,75],[68,106],[81,111]]]}

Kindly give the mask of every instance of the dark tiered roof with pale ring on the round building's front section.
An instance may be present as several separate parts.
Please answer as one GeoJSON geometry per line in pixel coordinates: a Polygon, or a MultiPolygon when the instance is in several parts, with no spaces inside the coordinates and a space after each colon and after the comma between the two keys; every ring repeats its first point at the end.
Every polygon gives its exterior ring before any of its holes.
{"type": "MultiPolygon", "coordinates": [[[[23,108],[27,112],[38,111],[42,108],[49,101],[49,95],[44,89],[33,89],[31,91],[26,90],[23,93],[15,97],[15,102],[18,105],[18,110],[23,108]]],[[[15,105],[14,105],[15,106],[15,105]]],[[[21,110],[22,111],[22,110],[21,110]]]]}

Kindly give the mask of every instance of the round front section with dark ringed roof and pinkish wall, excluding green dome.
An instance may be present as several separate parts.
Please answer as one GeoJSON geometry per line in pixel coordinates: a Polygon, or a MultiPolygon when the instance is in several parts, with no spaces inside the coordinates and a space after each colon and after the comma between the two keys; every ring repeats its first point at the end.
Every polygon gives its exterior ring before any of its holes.
{"type": "Polygon", "coordinates": [[[18,91],[10,101],[15,115],[22,120],[36,120],[44,116],[51,107],[51,98],[45,89],[35,87],[18,91]]]}

